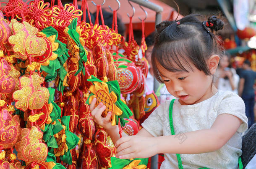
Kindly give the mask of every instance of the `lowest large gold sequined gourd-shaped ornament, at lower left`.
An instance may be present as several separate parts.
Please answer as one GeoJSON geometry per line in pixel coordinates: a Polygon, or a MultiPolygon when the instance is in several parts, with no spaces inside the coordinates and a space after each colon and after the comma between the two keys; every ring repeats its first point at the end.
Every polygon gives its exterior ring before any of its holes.
{"type": "Polygon", "coordinates": [[[46,159],[48,150],[42,142],[43,133],[38,126],[31,126],[31,129],[21,130],[21,141],[15,148],[18,151],[18,159],[25,162],[41,162],[46,159]]]}

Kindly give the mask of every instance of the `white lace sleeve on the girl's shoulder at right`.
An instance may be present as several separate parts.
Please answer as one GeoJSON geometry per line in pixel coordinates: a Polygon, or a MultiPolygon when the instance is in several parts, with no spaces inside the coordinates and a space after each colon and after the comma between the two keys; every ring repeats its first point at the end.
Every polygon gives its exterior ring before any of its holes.
{"type": "Polygon", "coordinates": [[[238,132],[244,132],[248,129],[248,119],[246,117],[246,108],[245,104],[238,95],[235,93],[229,92],[226,96],[222,99],[218,115],[220,114],[232,114],[233,116],[238,117],[243,123],[238,128],[238,132]]]}

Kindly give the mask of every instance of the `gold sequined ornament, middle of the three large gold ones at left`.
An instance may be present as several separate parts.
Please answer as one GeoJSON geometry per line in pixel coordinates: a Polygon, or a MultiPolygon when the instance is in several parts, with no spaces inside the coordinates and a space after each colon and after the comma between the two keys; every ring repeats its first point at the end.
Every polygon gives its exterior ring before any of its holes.
{"type": "Polygon", "coordinates": [[[42,108],[50,95],[47,88],[41,87],[44,79],[34,72],[32,75],[22,76],[19,80],[21,88],[13,93],[15,107],[22,111],[42,108]]]}

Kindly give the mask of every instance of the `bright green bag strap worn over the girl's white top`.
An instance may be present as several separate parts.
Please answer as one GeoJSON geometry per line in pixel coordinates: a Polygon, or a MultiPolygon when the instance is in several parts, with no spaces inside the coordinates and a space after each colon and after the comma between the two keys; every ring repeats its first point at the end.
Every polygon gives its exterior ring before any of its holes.
{"type": "MultiPolygon", "coordinates": [[[[170,121],[170,129],[171,129],[172,135],[175,135],[174,127],[173,127],[173,123],[172,123],[172,108],[173,108],[174,101],[175,101],[175,99],[172,99],[172,101],[170,103],[170,107],[169,107],[169,121],[170,121]]],[[[183,169],[180,154],[176,154],[176,156],[177,156],[177,159],[178,159],[179,169],[183,169]]],[[[238,158],[238,165],[239,165],[239,169],[243,169],[243,164],[242,164],[242,161],[241,161],[241,157],[238,158]]],[[[209,169],[209,168],[203,167],[203,168],[199,168],[199,169],[209,169]]]]}

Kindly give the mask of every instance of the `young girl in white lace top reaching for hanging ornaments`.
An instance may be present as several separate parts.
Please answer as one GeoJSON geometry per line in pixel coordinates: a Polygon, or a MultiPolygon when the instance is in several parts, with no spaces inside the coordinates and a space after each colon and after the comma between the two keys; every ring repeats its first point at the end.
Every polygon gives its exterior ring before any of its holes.
{"type": "Polygon", "coordinates": [[[201,22],[197,15],[157,25],[152,51],[154,76],[177,99],[160,105],[136,136],[119,137],[103,103],[90,109],[105,128],[120,159],[165,154],[161,169],[236,169],[241,133],[248,128],[243,100],[214,87],[213,75],[222,55],[214,31],[223,28],[216,16],[201,22]],[[210,32],[209,30],[212,30],[210,32]]]}

